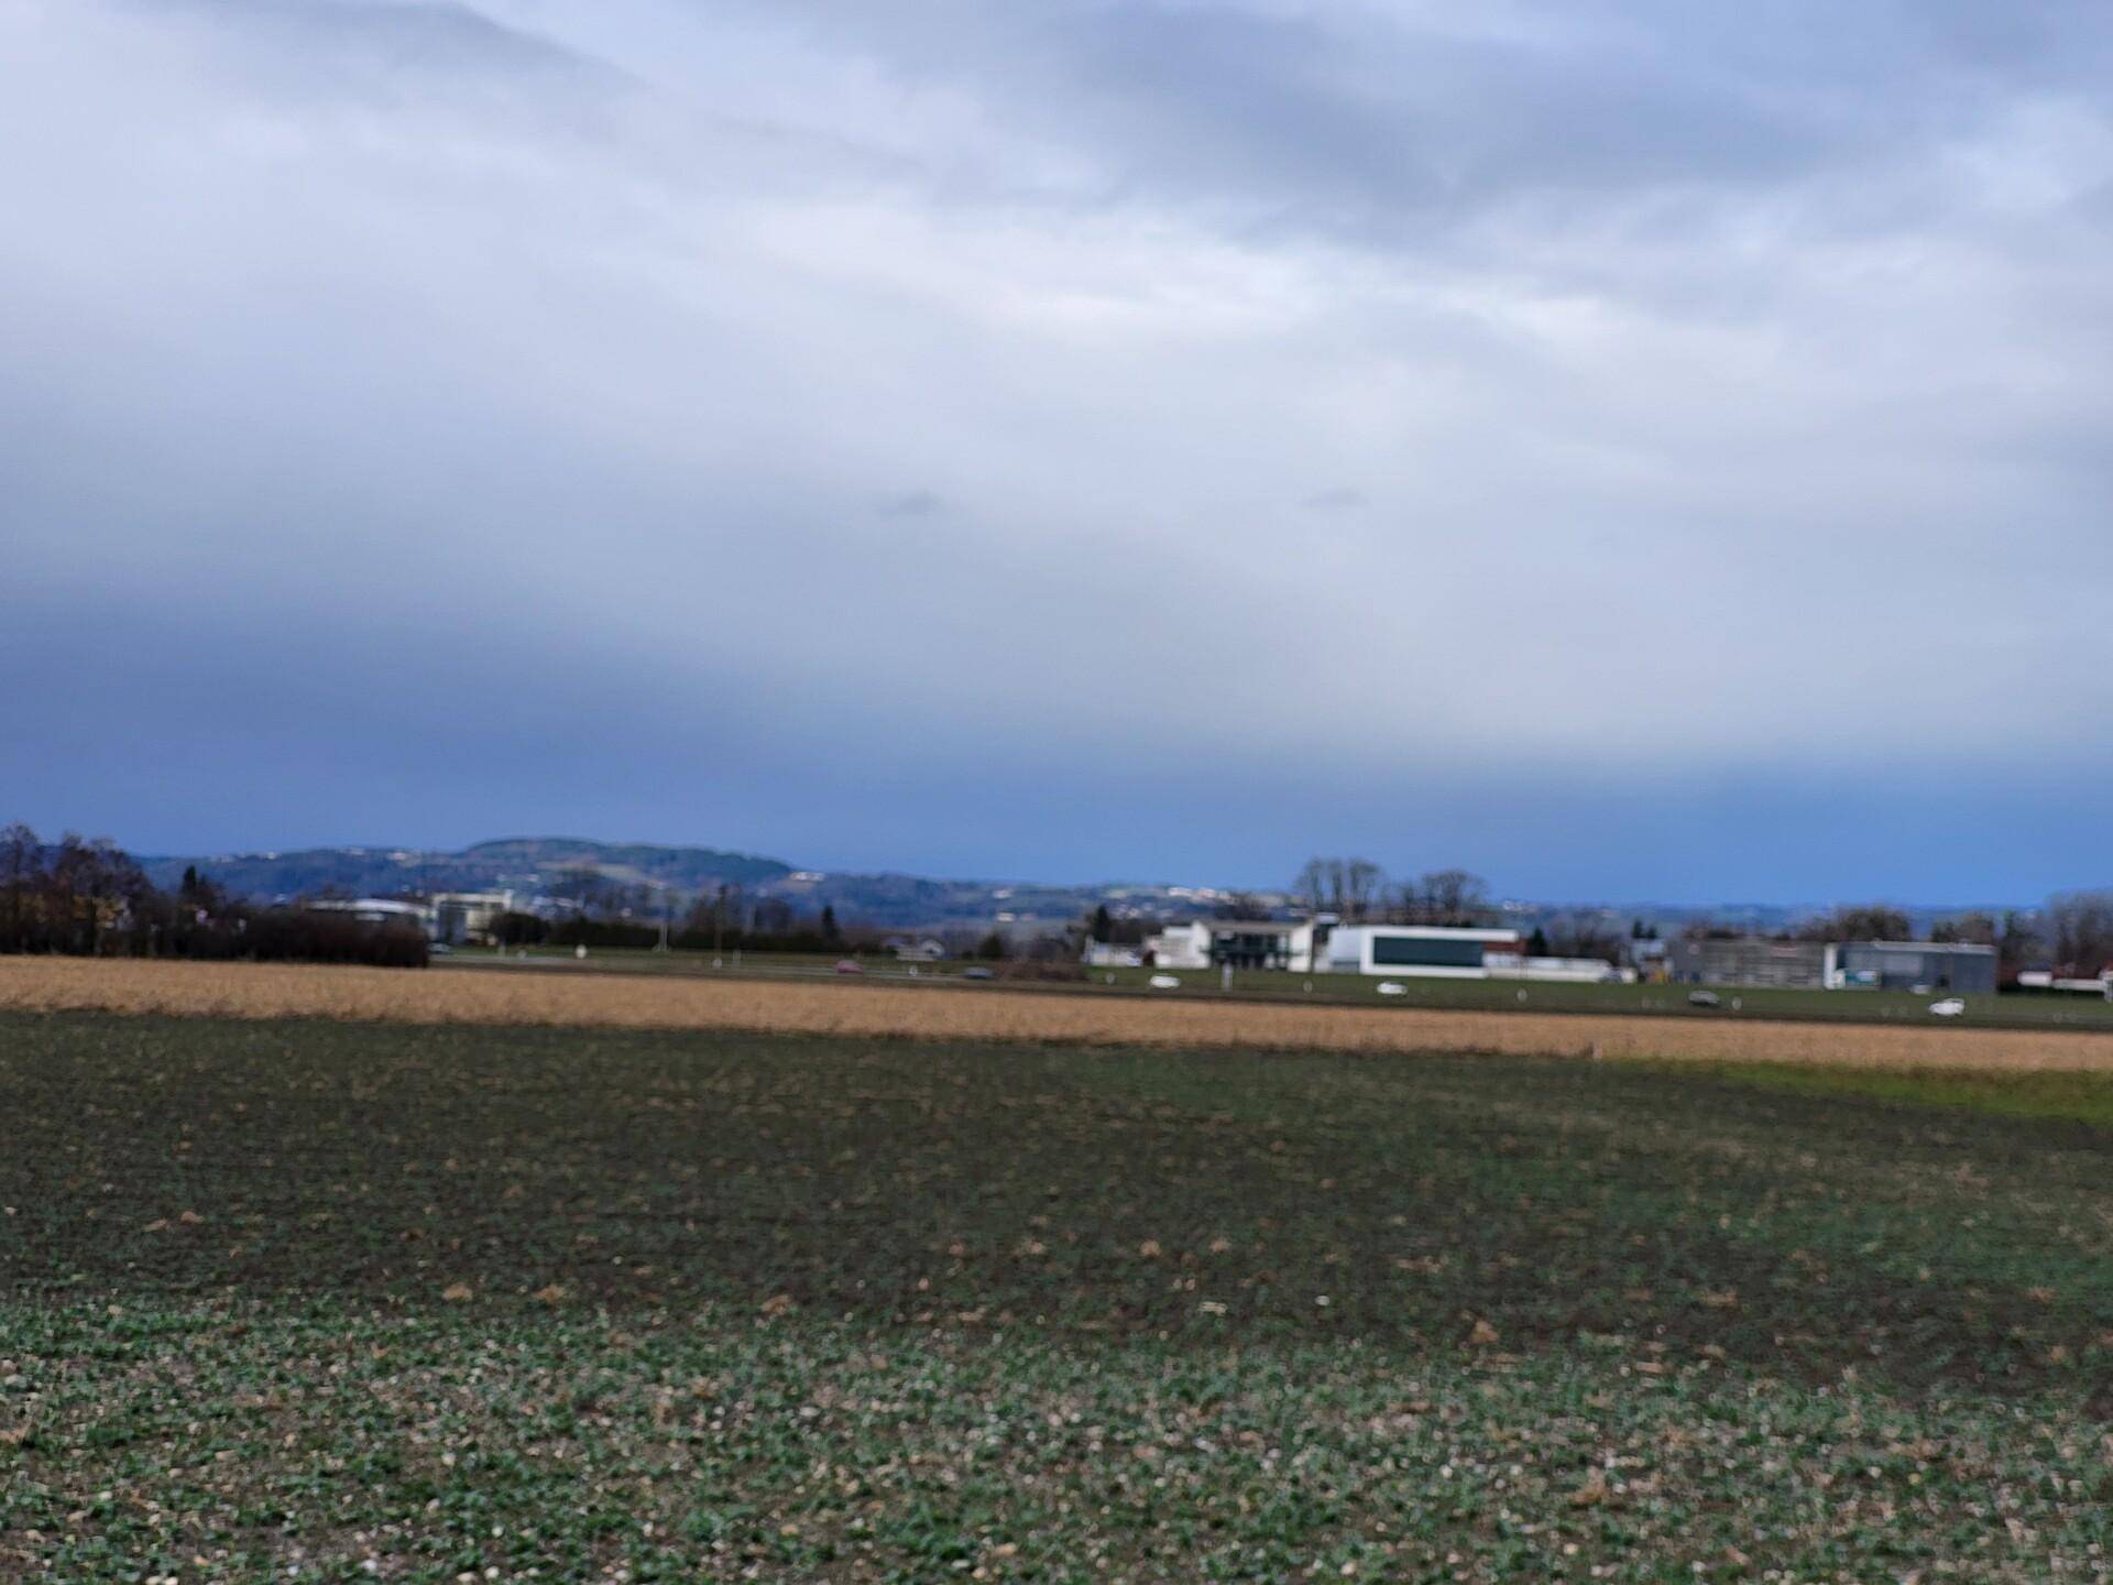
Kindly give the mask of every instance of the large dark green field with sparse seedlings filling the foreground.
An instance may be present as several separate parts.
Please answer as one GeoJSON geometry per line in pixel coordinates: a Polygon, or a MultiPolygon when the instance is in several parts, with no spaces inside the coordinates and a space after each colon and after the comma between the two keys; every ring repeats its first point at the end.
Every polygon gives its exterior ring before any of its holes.
{"type": "Polygon", "coordinates": [[[2105,1581],[1959,1084],[0,1019],[0,1577],[2105,1581]]]}

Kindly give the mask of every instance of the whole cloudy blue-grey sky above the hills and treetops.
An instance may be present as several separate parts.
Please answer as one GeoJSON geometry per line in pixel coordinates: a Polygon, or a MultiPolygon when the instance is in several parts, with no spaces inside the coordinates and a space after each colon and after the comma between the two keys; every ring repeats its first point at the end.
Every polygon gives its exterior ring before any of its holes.
{"type": "Polygon", "coordinates": [[[2098,0],[0,0],[0,818],[2113,881],[2098,0]]]}

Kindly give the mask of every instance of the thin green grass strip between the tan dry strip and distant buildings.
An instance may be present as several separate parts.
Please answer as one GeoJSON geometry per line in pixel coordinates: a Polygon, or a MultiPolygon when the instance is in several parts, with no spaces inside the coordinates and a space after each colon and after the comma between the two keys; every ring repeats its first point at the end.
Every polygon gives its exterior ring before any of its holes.
{"type": "MultiPolygon", "coordinates": [[[[585,959],[575,959],[571,949],[530,949],[526,957],[492,953],[488,949],[461,949],[446,959],[450,966],[509,970],[585,970],[594,974],[740,974],[748,978],[828,978],[835,974],[835,957],[811,957],[799,953],[750,953],[735,962],[731,953],[721,968],[712,968],[710,953],[653,953],[628,949],[596,949],[585,959]]],[[[919,964],[915,981],[919,985],[961,985],[961,972],[970,964],[919,964]]],[[[909,981],[906,964],[868,957],[862,964],[864,978],[875,983],[909,981]]],[[[1910,995],[1908,991],[1777,991],[1752,987],[1722,987],[1716,991],[1720,1006],[1699,1008],[1688,1002],[1690,985],[1519,985],[1517,981],[1441,981],[1403,976],[1401,995],[1380,995],[1382,978],[1363,974],[1285,974],[1274,970],[1240,970],[1226,991],[1217,970],[1181,970],[1179,991],[1154,991],[1147,981],[1149,968],[1090,970],[1076,985],[1035,983],[1037,991],[1097,991],[1126,995],[1209,995],[1209,997],[1257,997],[1272,1002],[1344,1002],[1352,1006],[1395,1006],[1395,1008],[1443,1008],[1458,1010],[1530,1010],[1530,1012],[1638,1012],[1678,1019],[1798,1019],[1824,1023],[1944,1023],[1929,1014],[1936,995],[1910,995]],[[1733,1006],[1737,1002],[1737,1006],[1733,1006]]],[[[2113,1029],[2113,1002],[2094,995],[1969,995],[1961,997],[1967,1010],[1950,1027],[1969,1029],[2113,1029]]]]}

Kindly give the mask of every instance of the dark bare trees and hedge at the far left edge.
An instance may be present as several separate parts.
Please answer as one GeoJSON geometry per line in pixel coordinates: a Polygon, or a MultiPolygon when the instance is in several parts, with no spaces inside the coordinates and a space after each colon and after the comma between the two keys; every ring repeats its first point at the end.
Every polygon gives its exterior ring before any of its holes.
{"type": "Polygon", "coordinates": [[[344,913],[251,907],[186,869],[158,890],[123,847],[25,824],[0,831],[0,953],[197,957],[423,968],[427,938],[344,913]]]}

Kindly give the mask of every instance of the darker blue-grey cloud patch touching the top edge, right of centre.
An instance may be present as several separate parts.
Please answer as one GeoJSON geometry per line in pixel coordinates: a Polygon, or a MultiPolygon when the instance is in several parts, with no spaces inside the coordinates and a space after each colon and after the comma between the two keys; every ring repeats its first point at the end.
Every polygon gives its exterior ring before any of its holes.
{"type": "Polygon", "coordinates": [[[1107,201],[1213,201],[1247,224],[1401,243],[1507,199],[1881,163],[1931,131],[1936,106],[1914,87],[1946,63],[1872,101],[1868,76],[1832,59],[1836,13],[1819,6],[1737,25],[1680,6],[1526,6],[1517,27],[1481,32],[1363,6],[822,11],[833,36],[909,85],[985,95],[1044,135],[1095,146],[1107,201]]]}

